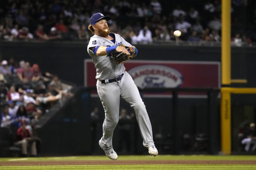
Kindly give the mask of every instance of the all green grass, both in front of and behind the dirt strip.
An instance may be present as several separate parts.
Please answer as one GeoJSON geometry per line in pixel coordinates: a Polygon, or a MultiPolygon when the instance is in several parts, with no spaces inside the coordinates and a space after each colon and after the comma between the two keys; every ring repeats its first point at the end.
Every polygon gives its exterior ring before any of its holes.
{"type": "MultiPolygon", "coordinates": [[[[62,156],[62,157],[38,157],[38,158],[0,158],[2,161],[53,161],[53,160],[109,160],[104,156],[62,156]]],[[[156,157],[149,155],[119,155],[118,160],[256,160],[256,155],[158,155],[156,157]]],[[[255,169],[256,165],[225,165],[225,164],[168,164],[168,165],[46,165],[46,166],[0,166],[1,169],[7,170],[57,170],[57,169],[104,169],[104,170],[127,170],[127,169],[140,169],[140,170],[163,170],[163,169],[255,169]]]]}

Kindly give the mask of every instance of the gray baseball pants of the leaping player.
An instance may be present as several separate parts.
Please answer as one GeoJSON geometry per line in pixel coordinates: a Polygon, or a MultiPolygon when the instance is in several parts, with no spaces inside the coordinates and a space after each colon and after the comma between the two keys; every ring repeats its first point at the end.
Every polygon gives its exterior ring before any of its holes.
{"type": "Polygon", "coordinates": [[[120,96],[125,99],[134,109],[143,146],[149,147],[154,145],[152,127],[146,107],[139,95],[137,86],[134,84],[131,76],[125,71],[119,82],[101,84],[97,81],[97,91],[105,110],[105,120],[103,122],[103,136],[99,142],[102,143],[105,152],[113,151],[112,137],[113,131],[118,123],[120,96]]]}

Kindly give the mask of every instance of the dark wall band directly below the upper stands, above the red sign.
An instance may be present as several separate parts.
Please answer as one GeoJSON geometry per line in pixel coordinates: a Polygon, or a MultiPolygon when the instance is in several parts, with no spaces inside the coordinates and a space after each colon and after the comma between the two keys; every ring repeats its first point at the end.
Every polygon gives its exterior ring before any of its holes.
{"type": "MultiPolygon", "coordinates": [[[[172,46],[167,44],[136,45],[133,60],[221,61],[221,48],[209,46],[172,46]]],[[[247,79],[246,87],[255,87],[254,65],[256,48],[232,47],[231,78],[247,79]]],[[[2,59],[38,63],[42,71],[59,75],[63,80],[84,84],[83,60],[90,58],[85,42],[0,42],[2,59]]],[[[96,73],[92,70],[92,74],[96,73]]],[[[96,81],[95,81],[96,82],[96,81]]],[[[234,84],[233,86],[241,86],[234,84]]]]}

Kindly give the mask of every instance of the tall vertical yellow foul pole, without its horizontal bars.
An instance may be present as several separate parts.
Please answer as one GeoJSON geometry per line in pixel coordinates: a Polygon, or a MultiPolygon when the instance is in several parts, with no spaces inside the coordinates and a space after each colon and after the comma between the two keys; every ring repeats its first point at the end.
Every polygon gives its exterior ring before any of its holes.
{"type": "MultiPolygon", "coordinates": [[[[231,0],[222,0],[221,9],[221,75],[222,85],[231,84],[231,0]]],[[[225,87],[224,87],[225,88],[225,87]]],[[[221,151],[231,153],[231,100],[230,93],[221,88],[221,151]]]]}

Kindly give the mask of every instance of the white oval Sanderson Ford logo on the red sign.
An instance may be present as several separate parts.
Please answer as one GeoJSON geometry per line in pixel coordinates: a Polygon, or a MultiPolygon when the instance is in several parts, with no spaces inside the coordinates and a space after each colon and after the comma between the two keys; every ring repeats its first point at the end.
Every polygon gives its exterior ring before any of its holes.
{"type": "Polygon", "coordinates": [[[163,65],[143,65],[128,71],[137,87],[174,88],[183,82],[179,71],[163,65]]]}

